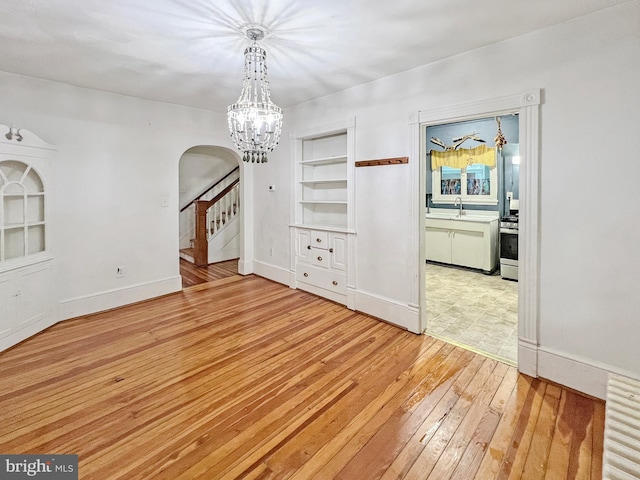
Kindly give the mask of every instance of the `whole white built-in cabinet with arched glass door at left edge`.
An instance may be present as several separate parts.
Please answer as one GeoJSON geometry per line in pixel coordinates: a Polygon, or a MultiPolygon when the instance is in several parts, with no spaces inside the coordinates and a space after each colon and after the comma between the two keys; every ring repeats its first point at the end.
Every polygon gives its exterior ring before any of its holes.
{"type": "Polygon", "coordinates": [[[54,322],[47,189],[52,145],[0,125],[0,350],[54,322]]]}

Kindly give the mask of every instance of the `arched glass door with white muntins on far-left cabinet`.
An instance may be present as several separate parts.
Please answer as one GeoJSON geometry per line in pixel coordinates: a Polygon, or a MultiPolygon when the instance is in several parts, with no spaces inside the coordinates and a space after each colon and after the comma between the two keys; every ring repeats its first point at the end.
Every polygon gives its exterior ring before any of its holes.
{"type": "Polygon", "coordinates": [[[17,160],[0,161],[0,262],[45,251],[45,192],[40,175],[17,160]]]}

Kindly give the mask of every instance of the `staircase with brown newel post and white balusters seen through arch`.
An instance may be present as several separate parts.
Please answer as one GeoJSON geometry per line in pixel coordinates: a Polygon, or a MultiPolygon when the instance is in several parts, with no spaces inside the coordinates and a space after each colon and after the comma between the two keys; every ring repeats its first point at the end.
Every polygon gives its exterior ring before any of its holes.
{"type": "Polygon", "coordinates": [[[190,246],[180,249],[180,258],[205,267],[238,257],[240,179],[233,175],[238,171],[239,167],[229,172],[181,209],[180,214],[186,215],[181,221],[192,228],[188,228],[190,246]]]}

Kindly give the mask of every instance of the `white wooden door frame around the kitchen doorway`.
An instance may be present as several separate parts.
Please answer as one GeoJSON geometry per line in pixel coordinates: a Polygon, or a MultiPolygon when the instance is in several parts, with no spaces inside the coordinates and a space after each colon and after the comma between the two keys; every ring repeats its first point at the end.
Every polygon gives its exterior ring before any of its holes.
{"type": "Polygon", "coordinates": [[[518,113],[520,142],[518,244],[518,370],[537,376],[540,305],[540,114],[541,90],[476,102],[420,110],[411,114],[412,212],[410,235],[413,258],[411,299],[419,310],[419,332],[427,325],[426,312],[426,127],[518,113]]]}

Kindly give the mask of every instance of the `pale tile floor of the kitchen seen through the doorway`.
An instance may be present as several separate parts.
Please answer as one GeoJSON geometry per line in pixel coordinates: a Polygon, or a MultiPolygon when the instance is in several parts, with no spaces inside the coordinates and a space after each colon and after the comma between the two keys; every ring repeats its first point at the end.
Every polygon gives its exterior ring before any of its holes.
{"type": "Polygon", "coordinates": [[[518,283],[427,263],[427,334],[517,364],[518,283]]]}

